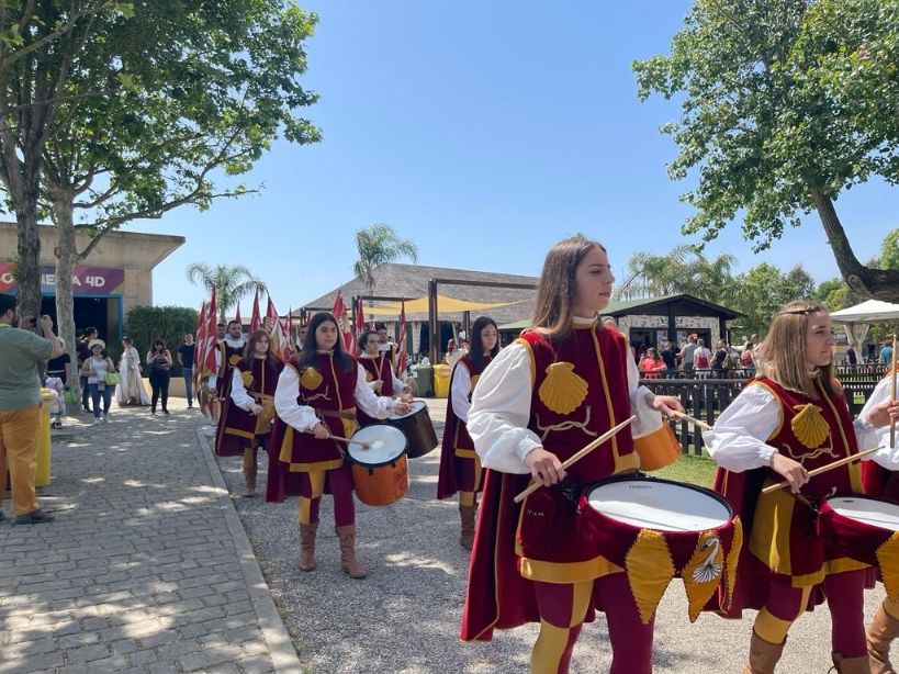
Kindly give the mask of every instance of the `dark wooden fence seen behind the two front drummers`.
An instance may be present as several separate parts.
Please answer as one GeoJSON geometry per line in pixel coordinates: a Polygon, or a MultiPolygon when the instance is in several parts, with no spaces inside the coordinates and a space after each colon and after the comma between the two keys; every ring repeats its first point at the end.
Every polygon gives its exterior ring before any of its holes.
{"type": "MultiPolygon", "coordinates": [[[[878,381],[878,378],[868,373],[840,377],[853,416],[862,411],[878,381]]],[[[659,395],[676,395],[688,415],[713,426],[718,415],[743,390],[746,379],[641,379],[640,383],[659,395]]],[[[684,419],[672,420],[670,424],[681,441],[683,453],[703,453],[703,433],[697,426],[684,419]]]]}

